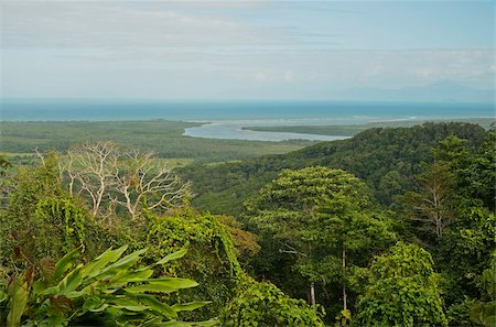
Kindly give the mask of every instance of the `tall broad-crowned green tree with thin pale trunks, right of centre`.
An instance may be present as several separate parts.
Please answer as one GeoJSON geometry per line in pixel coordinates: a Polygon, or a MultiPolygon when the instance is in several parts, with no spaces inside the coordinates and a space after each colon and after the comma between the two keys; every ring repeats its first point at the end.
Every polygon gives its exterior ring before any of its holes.
{"type": "Polygon", "coordinates": [[[317,166],[282,172],[247,203],[248,220],[262,237],[296,255],[294,269],[308,279],[312,304],[314,283],[337,283],[347,310],[346,285],[360,279],[374,251],[395,239],[367,193],[352,174],[317,166]]]}

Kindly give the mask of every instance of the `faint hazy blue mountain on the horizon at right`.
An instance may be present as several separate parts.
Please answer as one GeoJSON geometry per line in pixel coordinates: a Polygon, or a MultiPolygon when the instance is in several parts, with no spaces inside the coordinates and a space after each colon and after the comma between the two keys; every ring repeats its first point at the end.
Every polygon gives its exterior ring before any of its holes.
{"type": "Polygon", "coordinates": [[[494,96],[493,89],[470,88],[451,80],[398,89],[354,88],[334,92],[336,99],[360,101],[494,102],[494,96]]]}

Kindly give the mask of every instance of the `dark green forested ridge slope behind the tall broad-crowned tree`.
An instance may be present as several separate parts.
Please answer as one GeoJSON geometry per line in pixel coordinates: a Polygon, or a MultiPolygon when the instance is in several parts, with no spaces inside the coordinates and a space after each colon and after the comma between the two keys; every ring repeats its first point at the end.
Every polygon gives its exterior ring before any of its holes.
{"type": "Polygon", "coordinates": [[[412,128],[375,128],[353,139],[322,142],[284,155],[262,156],[242,163],[180,170],[193,182],[193,205],[215,214],[239,214],[241,204],[283,168],[322,165],[345,170],[363,179],[381,204],[414,188],[414,175],[431,162],[431,149],[449,135],[484,142],[485,131],[470,123],[424,123],[412,128]]]}

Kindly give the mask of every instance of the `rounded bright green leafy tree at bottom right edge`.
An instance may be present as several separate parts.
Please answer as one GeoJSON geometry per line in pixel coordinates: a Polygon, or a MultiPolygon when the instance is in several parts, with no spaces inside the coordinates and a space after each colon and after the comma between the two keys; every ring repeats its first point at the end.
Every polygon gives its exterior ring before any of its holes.
{"type": "Polygon", "coordinates": [[[431,254],[398,242],[373,263],[357,326],[448,326],[431,254]]]}

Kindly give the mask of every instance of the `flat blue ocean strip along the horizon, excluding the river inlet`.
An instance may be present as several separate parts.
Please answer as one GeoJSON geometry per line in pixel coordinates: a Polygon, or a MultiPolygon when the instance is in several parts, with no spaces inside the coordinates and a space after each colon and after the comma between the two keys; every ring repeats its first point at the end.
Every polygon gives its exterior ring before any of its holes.
{"type": "MultiPolygon", "coordinates": [[[[402,119],[494,117],[495,103],[1,100],[2,121],[402,119]]],[[[351,121],[352,122],[352,121],[351,121]]]]}

